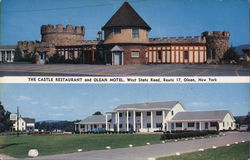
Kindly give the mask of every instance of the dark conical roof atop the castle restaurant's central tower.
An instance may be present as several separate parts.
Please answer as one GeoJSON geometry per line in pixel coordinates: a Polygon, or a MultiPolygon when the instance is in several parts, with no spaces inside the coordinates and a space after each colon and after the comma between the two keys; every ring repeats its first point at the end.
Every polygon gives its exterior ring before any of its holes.
{"type": "Polygon", "coordinates": [[[151,30],[151,27],[139,16],[128,2],[123,3],[102,29],[112,27],[140,27],[151,30]]]}

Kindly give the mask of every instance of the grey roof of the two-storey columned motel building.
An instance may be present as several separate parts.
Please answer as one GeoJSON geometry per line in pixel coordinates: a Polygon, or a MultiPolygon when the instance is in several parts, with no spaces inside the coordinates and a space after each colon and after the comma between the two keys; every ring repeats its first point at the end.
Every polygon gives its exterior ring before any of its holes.
{"type": "Polygon", "coordinates": [[[166,108],[167,110],[172,109],[179,101],[165,101],[165,102],[151,102],[151,103],[135,103],[135,104],[122,104],[114,109],[158,109],[166,108]]]}

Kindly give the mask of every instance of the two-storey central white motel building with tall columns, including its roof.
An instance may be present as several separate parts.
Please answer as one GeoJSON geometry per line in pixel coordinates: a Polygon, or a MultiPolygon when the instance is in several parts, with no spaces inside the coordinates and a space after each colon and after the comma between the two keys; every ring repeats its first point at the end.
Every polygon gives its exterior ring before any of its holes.
{"type": "Polygon", "coordinates": [[[167,130],[168,121],[185,108],[178,101],[123,104],[112,111],[111,131],[153,132],[167,130]]]}

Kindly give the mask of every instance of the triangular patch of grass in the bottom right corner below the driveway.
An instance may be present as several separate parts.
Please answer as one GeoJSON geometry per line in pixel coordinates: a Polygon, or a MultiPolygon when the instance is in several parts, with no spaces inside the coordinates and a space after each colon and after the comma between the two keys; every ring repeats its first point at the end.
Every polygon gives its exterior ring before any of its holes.
{"type": "Polygon", "coordinates": [[[250,142],[208,149],[204,152],[186,153],[180,156],[163,157],[157,160],[247,160],[250,158],[250,142]]]}

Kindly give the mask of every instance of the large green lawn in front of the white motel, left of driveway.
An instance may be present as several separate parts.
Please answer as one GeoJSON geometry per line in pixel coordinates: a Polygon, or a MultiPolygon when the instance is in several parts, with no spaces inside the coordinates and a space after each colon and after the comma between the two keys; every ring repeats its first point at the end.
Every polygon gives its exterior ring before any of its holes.
{"type": "Polygon", "coordinates": [[[65,136],[0,136],[0,154],[16,158],[27,157],[28,150],[36,148],[39,155],[52,155],[111,148],[125,148],[129,144],[142,146],[147,142],[161,143],[159,134],[118,134],[118,135],[65,135],[65,136]]]}

